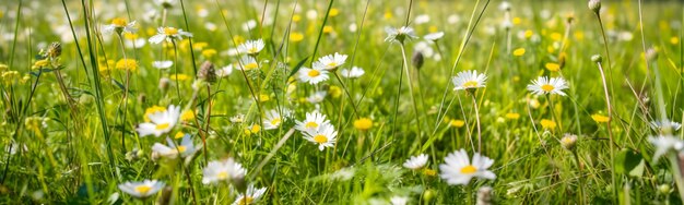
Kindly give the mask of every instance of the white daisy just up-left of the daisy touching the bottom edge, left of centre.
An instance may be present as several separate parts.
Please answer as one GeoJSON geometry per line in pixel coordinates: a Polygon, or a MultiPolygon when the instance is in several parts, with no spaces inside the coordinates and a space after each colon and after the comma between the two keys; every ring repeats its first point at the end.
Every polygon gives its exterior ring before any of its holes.
{"type": "Polygon", "coordinates": [[[246,174],[247,170],[233,158],[209,161],[207,167],[202,169],[202,183],[241,181],[246,174]]]}

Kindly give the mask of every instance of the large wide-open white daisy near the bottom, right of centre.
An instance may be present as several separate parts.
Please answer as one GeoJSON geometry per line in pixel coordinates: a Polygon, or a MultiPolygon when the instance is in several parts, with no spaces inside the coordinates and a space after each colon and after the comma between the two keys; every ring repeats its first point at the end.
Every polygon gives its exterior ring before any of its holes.
{"type": "Polygon", "coordinates": [[[473,177],[483,179],[496,179],[494,172],[487,170],[494,160],[475,153],[472,164],[465,149],[459,149],[445,157],[445,164],[439,165],[441,179],[451,185],[468,184],[473,177]]]}

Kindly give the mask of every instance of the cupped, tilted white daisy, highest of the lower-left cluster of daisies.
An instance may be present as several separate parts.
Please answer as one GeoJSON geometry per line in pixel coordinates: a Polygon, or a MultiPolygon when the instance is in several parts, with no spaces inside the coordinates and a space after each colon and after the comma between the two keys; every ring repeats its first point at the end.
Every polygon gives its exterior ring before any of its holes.
{"type": "Polygon", "coordinates": [[[164,133],[167,133],[178,122],[178,117],[180,116],[180,107],[170,105],[168,109],[164,111],[156,111],[153,113],[149,113],[148,118],[150,122],[143,122],[138,124],[135,131],[140,136],[146,136],[150,134],[154,134],[154,136],[161,136],[164,133]]]}

